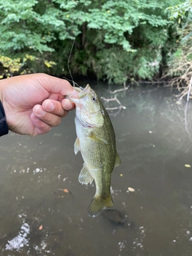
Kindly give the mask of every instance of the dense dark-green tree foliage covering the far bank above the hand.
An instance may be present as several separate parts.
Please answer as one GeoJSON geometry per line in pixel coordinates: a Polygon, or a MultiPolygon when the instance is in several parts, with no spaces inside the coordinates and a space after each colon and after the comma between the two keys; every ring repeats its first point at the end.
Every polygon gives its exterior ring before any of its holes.
{"type": "Polygon", "coordinates": [[[164,55],[175,42],[175,22],[166,8],[179,3],[0,0],[1,74],[67,75],[70,57],[72,74],[91,73],[115,83],[152,79],[161,74],[164,55]]]}

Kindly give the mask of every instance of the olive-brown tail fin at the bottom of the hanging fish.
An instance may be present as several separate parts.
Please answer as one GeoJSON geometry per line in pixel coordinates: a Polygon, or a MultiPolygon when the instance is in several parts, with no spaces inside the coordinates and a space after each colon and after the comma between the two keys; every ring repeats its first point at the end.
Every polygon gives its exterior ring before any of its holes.
{"type": "Polygon", "coordinates": [[[90,217],[96,217],[101,213],[104,209],[112,209],[114,208],[114,202],[111,196],[107,198],[94,197],[90,202],[90,206],[87,211],[90,217]]]}

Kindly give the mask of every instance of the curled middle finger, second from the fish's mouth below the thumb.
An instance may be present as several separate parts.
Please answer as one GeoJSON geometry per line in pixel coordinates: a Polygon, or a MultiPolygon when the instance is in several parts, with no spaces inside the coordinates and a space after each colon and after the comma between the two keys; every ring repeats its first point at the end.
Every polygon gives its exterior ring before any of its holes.
{"type": "Polygon", "coordinates": [[[42,102],[42,109],[46,112],[56,114],[62,118],[65,117],[67,114],[67,111],[62,108],[61,102],[50,99],[46,99],[44,102],[42,102]]]}

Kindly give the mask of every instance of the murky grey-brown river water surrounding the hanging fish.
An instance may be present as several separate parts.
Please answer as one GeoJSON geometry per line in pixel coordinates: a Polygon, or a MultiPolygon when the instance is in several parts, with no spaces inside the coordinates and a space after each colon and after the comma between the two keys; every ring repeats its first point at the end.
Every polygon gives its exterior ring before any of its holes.
{"type": "Polygon", "coordinates": [[[118,98],[126,110],[110,117],[122,164],[111,186],[124,224],[86,213],[95,187],[78,183],[73,112],[49,134],[1,138],[2,256],[191,255],[192,106],[185,118],[185,102],[178,106],[168,88],[134,88],[118,98]]]}

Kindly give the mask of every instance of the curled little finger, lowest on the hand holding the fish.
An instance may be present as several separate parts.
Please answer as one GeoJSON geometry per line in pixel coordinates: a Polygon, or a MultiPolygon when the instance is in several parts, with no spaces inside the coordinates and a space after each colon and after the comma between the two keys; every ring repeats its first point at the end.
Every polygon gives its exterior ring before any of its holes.
{"type": "Polygon", "coordinates": [[[43,122],[41,119],[36,118],[34,116],[34,113],[30,114],[30,120],[35,126],[33,136],[36,136],[38,134],[46,134],[51,130],[51,126],[49,126],[46,122],[43,122]]]}

